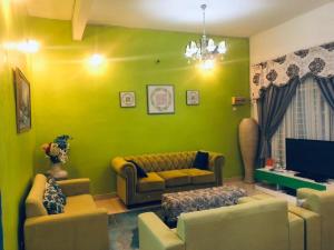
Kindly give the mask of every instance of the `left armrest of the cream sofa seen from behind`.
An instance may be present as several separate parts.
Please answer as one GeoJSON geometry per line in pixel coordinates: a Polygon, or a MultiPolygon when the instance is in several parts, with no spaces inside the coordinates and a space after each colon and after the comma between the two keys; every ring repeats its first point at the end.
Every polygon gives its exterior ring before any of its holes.
{"type": "Polygon", "coordinates": [[[185,243],[155,213],[138,216],[140,250],[185,250],[185,243]]]}

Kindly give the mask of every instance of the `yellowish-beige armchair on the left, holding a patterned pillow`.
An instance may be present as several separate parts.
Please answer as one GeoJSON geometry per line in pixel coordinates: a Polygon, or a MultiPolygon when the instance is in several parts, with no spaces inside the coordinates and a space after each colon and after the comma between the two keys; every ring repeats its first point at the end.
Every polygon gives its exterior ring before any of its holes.
{"type": "Polygon", "coordinates": [[[26,200],[26,250],[108,250],[108,216],[89,194],[89,179],[59,181],[65,212],[49,216],[42,204],[46,177],[37,174],[26,200]]]}

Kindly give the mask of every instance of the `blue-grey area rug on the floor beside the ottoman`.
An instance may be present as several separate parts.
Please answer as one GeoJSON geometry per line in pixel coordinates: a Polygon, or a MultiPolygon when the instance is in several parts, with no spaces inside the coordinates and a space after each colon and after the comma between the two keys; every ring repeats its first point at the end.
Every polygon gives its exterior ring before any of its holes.
{"type": "Polygon", "coordinates": [[[158,217],[163,217],[160,206],[109,216],[110,250],[139,249],[137,217],[143,212],[155,212],[158,217]]]}

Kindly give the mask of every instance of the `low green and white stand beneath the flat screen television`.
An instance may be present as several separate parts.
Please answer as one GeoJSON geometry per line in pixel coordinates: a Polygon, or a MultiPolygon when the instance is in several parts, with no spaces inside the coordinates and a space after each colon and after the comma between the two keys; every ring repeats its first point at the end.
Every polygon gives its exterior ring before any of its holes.
{"type": "Polygon", "coordinates": [[[296,172],[288,170],[272,171],[263,168],[255,170],[255,180],[258,182],[275,184],[276,189],[279,189],[282,187],[291,188],[294,190],[301,188],[310,188],[320,191],[334,189],[334,184],[318,183],[307,178],[296,177],[295,174],[296,172]]]}

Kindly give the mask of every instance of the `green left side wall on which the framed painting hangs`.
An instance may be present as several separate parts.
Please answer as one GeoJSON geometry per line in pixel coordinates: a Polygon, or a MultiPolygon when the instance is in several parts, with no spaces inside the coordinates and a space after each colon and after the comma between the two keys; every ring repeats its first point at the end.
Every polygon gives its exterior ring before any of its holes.
{"type": "MultiPolygon", "coordinates": [[[[24,10],[0,2],[0,43],[20,41],[27,31],[24,10]]],[[[17,250],[22,241],[23,206],[33,176],[35,129],[21,134],[16,130],[12,68],[19,67],[29,79],[26,54],[0,47],[0,188],[4,249],[17,250]]],[[[32,123],[32,128],[33,128],[32,123]]]]}

